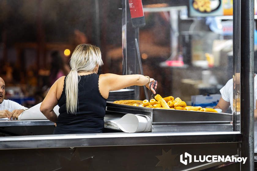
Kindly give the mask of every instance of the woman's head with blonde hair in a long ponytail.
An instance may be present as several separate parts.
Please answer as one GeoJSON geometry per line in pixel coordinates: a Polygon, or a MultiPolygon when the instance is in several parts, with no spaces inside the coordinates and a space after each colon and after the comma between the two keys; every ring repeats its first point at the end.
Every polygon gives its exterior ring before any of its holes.
{"type": "Polygon", "coordinates": [[[90,44],[78,45],[70,59],[71,71],[66,77],[66,110],[75,114],[78,103],[78,72],[97,73],[102,66],[102,56],[99,47],[90,44]]]}

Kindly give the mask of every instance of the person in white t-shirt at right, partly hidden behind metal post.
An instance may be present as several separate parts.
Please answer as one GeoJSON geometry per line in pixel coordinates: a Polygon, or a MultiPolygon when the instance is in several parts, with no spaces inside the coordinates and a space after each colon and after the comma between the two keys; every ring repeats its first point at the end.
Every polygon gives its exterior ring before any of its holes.
{"type": "MultiPolygon", "coordinates": [[[[222,109],[222,112],[225,112],[229,105],[231,111],[233,111],[233,78],[231,78],[222,89],[220,89],[221,98],[214,107],[214,109],[222,109]]],[[[254,151],[257,151],[257,76],[254,75],[254,151]]]]}

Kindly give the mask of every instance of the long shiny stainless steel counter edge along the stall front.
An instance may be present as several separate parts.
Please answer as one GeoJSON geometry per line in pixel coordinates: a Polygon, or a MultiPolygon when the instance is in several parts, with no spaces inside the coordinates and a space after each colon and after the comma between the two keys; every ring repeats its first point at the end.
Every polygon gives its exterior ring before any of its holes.
{"type": "Polygon", "coordinates": [[[0,137],[0,149],[239,142],[240,132],[99,133],[0,137]]]}

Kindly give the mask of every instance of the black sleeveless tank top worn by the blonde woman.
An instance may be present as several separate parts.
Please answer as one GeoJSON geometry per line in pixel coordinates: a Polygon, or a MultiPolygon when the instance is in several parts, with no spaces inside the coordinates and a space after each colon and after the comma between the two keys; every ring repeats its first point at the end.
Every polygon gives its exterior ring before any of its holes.
{"type": "Polygon", "coordinates": [[[60,107],[54,134],[102,133],[106,99],[99,92],[99,75],[81,75],[78,83],[78,105],[75,114],[66,111],[64,86],[58,105],[60,107]]]}

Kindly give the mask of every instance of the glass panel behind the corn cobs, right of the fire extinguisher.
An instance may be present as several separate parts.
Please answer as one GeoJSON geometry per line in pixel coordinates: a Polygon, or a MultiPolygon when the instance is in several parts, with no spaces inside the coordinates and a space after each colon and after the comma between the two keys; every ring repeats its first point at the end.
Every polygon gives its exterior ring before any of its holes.
{"type": "Polygon", "coordinates": [[[145,74],[159,81],[157,92],[180,97],[189,106],[215,107],[230,80],[223,112],[232,114],[233,3],[213,5],[209,9],[194,0],[143,3],[141,57],[145,74]]]}

